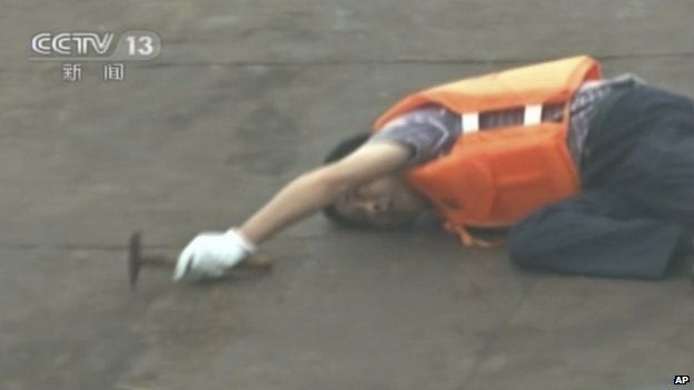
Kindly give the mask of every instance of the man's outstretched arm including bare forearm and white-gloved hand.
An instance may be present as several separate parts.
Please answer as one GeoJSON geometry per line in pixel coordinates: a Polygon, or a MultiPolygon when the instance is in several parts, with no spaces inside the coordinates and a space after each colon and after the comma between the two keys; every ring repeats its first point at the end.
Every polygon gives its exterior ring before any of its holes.
{"type": "Polygon", "coordinates": [[[343,160],[301,174],[282,188],[244,226],[227,232],[198,234],[178,257],[174,280],[186,274],[214,278],[225,274],[287,226],[308,217],[355,186],[404,167],[409,149],[396,143],[369,143],[343,160]]]}

